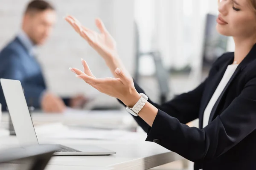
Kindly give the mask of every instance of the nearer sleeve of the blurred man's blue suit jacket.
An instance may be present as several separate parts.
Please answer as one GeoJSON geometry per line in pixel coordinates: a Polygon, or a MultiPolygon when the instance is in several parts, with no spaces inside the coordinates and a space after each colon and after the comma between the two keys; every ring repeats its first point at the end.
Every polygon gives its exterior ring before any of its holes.
{"type": "Polygon", "coordinates": [[[41,105],[41,94],[43,93],[45,88],[26,83],[26,80],[23,76],[22,68],[20,66],[20,58],[18,54],[15,53],[15,51],[8,50],[8,57],[6,58],[7,59],[3,61],[5,62],[3,64],[5,65],[5,70],[2,78],[20,80],[25,92],[25,98],[28,105],[39,108],[41,105]]]}

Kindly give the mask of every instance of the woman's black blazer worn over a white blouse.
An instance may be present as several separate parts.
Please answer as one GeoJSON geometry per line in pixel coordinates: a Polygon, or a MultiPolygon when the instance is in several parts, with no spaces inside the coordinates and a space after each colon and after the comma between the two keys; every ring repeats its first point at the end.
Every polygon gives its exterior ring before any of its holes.
{"type": "Polygon", "coordinates": [[[256,45],[215,103],[209,125],[202,128],[204,110],[233,60],[234,53],[223,54],[201,85],[163,105],[149,99],[159,109],[152,127],[134,117],[148,133],[146,141],[195,162],[195,170],[256,170],[256,45]],[[197,118],[199,128],[185,125],[197,118]]]}

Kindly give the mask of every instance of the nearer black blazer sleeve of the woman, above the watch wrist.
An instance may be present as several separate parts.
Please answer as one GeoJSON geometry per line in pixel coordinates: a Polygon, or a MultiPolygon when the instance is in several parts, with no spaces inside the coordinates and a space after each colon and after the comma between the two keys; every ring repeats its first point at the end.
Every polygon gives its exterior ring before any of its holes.
{"type": "Polygon", "coordinates": [[[256,129],[256,76],[241,94],[203,129],[189,127],[159,109],[146,141],[157,141],[191,161],[220,156],[256,129]]]}

